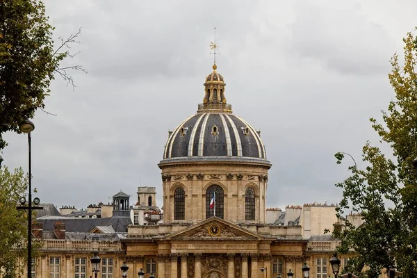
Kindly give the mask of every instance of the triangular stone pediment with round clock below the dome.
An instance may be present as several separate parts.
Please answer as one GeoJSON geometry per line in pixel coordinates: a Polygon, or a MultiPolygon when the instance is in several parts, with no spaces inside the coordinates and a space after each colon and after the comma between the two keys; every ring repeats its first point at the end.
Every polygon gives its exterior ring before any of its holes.
{"type": "Polygon", "coordinates": [[[166,237],[167,240],[259,240],[263,236],[221,218],[208,218],[166,237]],[[212,229],[218,233],[213,233],[212,229]]]}

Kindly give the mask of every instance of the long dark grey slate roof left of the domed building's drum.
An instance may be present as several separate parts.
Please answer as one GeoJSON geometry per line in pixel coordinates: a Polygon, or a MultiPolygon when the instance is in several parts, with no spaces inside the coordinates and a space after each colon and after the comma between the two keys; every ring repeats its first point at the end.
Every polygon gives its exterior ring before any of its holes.
{"type": "Polygon", "coordinates": [[[129,217],[111,217],[111,218],[65,218],[63,216],[45,216],[36,219],[44,224],[44,231],[54,231],[56,222],[65,224],[66,232],[85,232],[92,231],[97,226],[111,226],[116,233],[126,232],[127,227],[132,224],[129,217]]]}

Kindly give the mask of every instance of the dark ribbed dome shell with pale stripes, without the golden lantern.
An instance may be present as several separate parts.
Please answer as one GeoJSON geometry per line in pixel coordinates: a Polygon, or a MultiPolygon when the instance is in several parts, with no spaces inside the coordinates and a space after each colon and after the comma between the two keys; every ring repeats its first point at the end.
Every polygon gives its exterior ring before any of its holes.
{"type": "Polygon", "coordinates": [[[231,113],[197,113],[170,133],[164,159],[192,156],[242,156],[266,159],[261,136],[231,113]]]}

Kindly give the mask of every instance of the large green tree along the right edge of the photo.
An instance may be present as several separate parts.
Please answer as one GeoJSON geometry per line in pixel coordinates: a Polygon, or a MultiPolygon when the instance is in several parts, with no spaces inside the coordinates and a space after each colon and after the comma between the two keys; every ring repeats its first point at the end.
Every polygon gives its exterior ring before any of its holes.
{"type": "MultiPolygon", "coordinates": [[[[337,208],[338,217],[345,211],[361,213],[365,221],[360,227],[345,222],[345,229],[335,229],[341,238],[338,252],[354,250],[347,270],[361,272],[361,277],[378,277],[380,270],[397,265],[402,277],[415,277],[417,272],[417,171],[413,160],[417,156],[417,40],[412,33],[404,38],[404,61],[395,54],[391,58],[389,81],[395,99],[382,111],[382,123],[371,118],[380,142],[389,145],[389,158],[379,147],[366,142],[359,169],[350,166],[350,177],[336,184],[343,188],[343,198],[337,208]],[[365,267],[365,268],[364,268],[365,267]]],[[[341,163],[344,153],[337,153],[341,163]]]]}

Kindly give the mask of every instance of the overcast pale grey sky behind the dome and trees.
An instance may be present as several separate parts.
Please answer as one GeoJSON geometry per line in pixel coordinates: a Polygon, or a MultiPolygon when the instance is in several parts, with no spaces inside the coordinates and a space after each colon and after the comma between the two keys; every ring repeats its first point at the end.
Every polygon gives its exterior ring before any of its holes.
{"type": "MultiPolygon", "coordinates": [[[[155,186],[167,133],[197,111],[218,72],[234,113],[261,130],[269,171],[267,205],[336,204],[334,186],[361,160],[368,119],[382,120],[394,92],[389,63],[417,26],[417,1],[402,0],[45,0],[54,38],[79,28],[63,65],[76,88],[56,76],[46,111],[33,118],[33,188],[41,202],[85,208],[120,190],[136,200],[155,186]]],[[[27,138],[8,133],[3,165],[27,170],[27,138]]]]}

